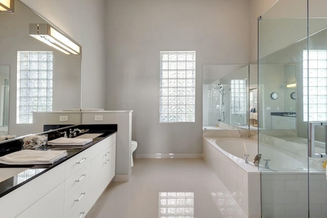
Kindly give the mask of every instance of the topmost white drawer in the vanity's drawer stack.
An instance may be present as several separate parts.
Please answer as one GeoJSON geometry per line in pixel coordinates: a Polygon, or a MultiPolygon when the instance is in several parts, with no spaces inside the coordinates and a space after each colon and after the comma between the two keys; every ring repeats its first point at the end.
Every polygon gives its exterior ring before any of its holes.
{"type": "Polygon", "coordinates": [[[66,178],[73,175],[76,171],[85,165],[90,164],[90,149],[86,149],[80,154],[66,161],[66,178]]]}

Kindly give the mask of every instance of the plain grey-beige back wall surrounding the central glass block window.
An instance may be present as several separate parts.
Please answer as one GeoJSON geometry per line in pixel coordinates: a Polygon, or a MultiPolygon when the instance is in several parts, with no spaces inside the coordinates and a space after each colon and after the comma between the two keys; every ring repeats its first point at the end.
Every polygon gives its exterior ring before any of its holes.
{"type": "Polygon", "coordinates": [[[202,153],[202,65],[249,62],[249,1],[108,0],[107,110],[133,110],[137,154],[202,153]],[[196,122],[159,124],[159,51],[196,51],[196,122]]]}

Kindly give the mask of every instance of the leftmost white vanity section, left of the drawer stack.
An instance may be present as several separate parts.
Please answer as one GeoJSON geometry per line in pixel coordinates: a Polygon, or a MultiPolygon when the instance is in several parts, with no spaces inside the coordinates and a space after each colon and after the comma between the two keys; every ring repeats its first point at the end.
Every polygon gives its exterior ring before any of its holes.
{"type": "Polygon", "coordinates": [[[65,163],[61,163],[0,198],[0,216],[62,217],[64,171],[65,163]]]}

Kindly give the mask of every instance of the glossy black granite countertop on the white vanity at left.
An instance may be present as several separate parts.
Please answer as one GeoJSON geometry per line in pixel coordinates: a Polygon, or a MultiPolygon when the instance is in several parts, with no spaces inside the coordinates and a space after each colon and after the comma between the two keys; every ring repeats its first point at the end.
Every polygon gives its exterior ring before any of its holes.
{"type": "MultiPolygon", "coordinates": [[[[94,144],[98,143],[99,141],[103,140],[104,138],[107,138],[108,136],[117,132],[117,125],[77,125],[77,126],[74,126],[74,128],[89,129],[89,131],[87,133],[103,133],[103,134],[94,138],[91,143],[87,144],[83,148],[67,149],[68,155],[64,158],[61,158],[60,160],[56,161],[53,164],[47,164],[47,165],[0,164],[0,168],[13,168],[13,171],[14,171],[14,168],[28,168],[25,171],[17,174],[16,176],[13,176],[9,179],[6,179],[6,180],[0,182],[0,198],[7,195],[8,193],[15,190],[16,188],[30,182],[31,180],[35,179],[36,177],[42,175],[43,173],[50,171],[50,169],[54,168],[55,166],[59,165],[60,163],[63,163],[64,161],[68,160],[69,158],[72,158],[75,155],[79,154],[80,152],[85,151],[86,149],[94,146],[94,144]]],[[[65,130],[65,129],[61,129],[61,131],[62,130],[65,130]]],[[[58,132],[58,130],[50,130],[45,133],[49,134],[49,136],[48,136],[49,140],[52,140],[54,138],[60,137],[60,136],[56,136],[56,132],[58,132]]],[[[40,134],[43,134],[43,133],[40,133],[40,134]]],[[[17,141],[16,143],[21,143],[21,141],[17,141]]],[[[10,142],[10,144],[12,146],[13,142],[10,142]]],[[[7,147],[8,147],[8,145],[6,145],[6,143],[0,144],[0,149],[7,148],[7,147]]],[[[21,147],[21,145],[20,145],[20,147],[21,147]]],[[[65,150],[65,149],[63,148],[62,150],[65,150]]],[[[14,151],[17,151],[17,149],[14,151]]],[[[11,151],[11,152],[14,152],[14,151],[11,151]]],[[[11,152],[9,152],[9,153],[11,153],[11,152]]]]}

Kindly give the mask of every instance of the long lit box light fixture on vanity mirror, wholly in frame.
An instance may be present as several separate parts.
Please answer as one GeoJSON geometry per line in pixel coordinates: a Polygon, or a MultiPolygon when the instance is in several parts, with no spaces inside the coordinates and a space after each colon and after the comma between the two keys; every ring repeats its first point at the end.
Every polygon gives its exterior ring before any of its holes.
{"type": "Polygon", "coordinates": [[[66,55],[79,55],[81,46],[48,23],[30,23],[30,36],[48,44],[66,55]]]}

